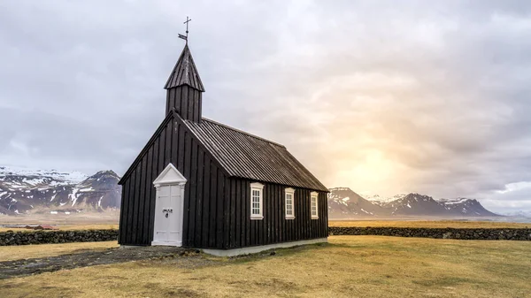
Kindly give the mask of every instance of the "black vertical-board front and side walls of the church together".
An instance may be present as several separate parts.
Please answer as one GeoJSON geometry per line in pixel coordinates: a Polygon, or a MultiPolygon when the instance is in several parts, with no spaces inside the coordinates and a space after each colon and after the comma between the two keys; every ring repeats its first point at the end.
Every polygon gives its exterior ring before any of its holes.
{"type": "Polygon", "coordinates": [[[170,162],[188,180],[183,246],[242,248],[327,237],[325,192],[319,192],[319,219],[312,219],[312,191],[295,188],[295,219],[285,219],[286,186],[265,183],[264,219],[250,220],[250,180],[228,178],[180,118],[169,115],[153,138],[122,183],[120,244],[150,245],[156,201],[152,181],[170,162]]]}

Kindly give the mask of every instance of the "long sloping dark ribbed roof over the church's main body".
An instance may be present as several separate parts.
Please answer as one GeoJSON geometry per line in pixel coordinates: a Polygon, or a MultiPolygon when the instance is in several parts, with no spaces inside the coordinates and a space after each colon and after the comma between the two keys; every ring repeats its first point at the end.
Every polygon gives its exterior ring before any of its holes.
{"type": "Polygon", "coordinates": [[[207,118],[183,122],[229,176],[328,192],[281,144],[207,118]]]}

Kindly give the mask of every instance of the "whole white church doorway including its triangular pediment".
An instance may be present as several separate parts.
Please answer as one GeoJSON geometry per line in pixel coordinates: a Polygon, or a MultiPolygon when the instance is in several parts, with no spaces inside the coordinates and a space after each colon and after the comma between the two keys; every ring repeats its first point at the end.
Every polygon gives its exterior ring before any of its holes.
{"type": "MultiPolygon", "coordinates": [[[[153,225],[153,241],[151,241],[151,245],[167,245],[167,246],[182,246],[182,231],[183,231],[183,216],[184,216],[184,187],[186,186],[186,178],[179,172],[173,164],[168,164],[165,169],[158,175],[157,179],[153,181],[153,185],[157,189],[157,196],[155,201],[155,224],[153,225]],[[180,202],[177,202],[180,204],[180,206],[174,205],[174,206],[162,206],[159,200],[159,197],[161,195],[160,191],[162,187],[169,187],[170,189],[174,189],[175,187],[181,192],[179,194],[180,202]],[[173,210],[173,208],[175,210],[173,210]],[[165,210],[165,211],[163,211],[165,210]],[[165,241],[158,239],[157,231],[161,228],[161,225],[167,224],[167,221],[165,221],[165,216],[172,216],[177,217],[177,226],[173,226],[175,231],[180,232],[177,239],[174,241],[165,241]]],[[[168,194],[168,195],[171,195],[168,194]]],[[[171,195],[173,196],[173,195],[171,195]]],[[[171,202],[171,196],[170,196],[170,203],[173,204],[174,202],[171,202]]],[[[166,233],[170,233],[167,231],[166,233]]]]}

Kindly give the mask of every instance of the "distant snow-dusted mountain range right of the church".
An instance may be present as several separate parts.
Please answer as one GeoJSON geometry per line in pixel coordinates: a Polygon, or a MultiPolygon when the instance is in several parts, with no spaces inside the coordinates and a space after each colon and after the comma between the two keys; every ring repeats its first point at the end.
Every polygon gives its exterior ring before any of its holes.
{"type": "Polygon", "coordinates": [[[372,195],[363,198],[348,187],[331,188],[328,195],[330,218],[354,217],[494,217],[474,199],[441,199],[431,196],[408,194],[382,198],[372,195]],[[355,200],[352,200],[355,198],[355,200]],[[363,208],[363,209],[362,209],[363,208]],[[360,212],[360,210],[362,210],[360,212]]]}

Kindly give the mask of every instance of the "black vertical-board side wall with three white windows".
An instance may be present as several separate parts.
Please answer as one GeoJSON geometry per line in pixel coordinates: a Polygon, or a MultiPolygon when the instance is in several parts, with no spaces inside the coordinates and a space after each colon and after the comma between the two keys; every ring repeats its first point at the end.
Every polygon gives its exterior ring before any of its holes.
{"type": "Polygon", "coordinates": [[[284,189],[286,186],[265,183],[262,220],[250,219],[250,181],[225,180],[227,187],[225,248],[242,248],[285,241],[302,241],[328,236],[327,193],[318,192],[319,219],[312,219],[310,193],[295,188],[295,219],[286,219],[284,189]]]}

